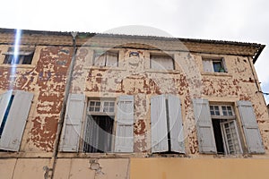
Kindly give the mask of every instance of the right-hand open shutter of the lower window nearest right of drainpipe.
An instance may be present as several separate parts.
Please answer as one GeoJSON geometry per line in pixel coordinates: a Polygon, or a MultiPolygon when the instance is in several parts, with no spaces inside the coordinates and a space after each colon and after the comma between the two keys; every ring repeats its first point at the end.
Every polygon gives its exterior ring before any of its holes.
{"type": "Polygon", "coordinates": [[[134,151],[134,97],[120,96],[117,100],[115,152],[134,151]]]}

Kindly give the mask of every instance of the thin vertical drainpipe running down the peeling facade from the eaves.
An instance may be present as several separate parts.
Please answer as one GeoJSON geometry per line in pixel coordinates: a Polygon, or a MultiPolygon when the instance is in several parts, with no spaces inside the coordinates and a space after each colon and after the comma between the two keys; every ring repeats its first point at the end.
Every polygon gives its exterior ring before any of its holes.
{"type": "Polygon", "coordinates": [[[72,38],[73,38],[73,48],[74,48],[74,52],[72,55],[72,60],[69,66],[69,71],[67,74],[67,79],[66,79],[66,85],[65,85],[65,97],[64,97],[64,101],[63,101],[63,107],[60,113],[60,120],[58,122],[58,126],[57,126],[57,132],[56,132],[56,141],[55,141],[55,145],[54,145],[54,149],[53,149],[53,155],[52,155],[52,167],[50,169],[51,171],[51,175],[50,178],[54,177],[54,172],[55,172],[55,167],[56,167],[56,157],[57,157],[57,153],[58,153],[58,148],[59,148],[59,143],[60,143],[60,139],[61,139],[61,132],[63,129],[63,124],[65,121],[65,107],[66,107],[66,103],[67,103],[67,99],[69,96],[69,90],[71,87],[71,83],[72,83],[72,75],[74,72],[74,62],[75,62],[75,55],[76,55],[76,51],[77,51],[77,47],[76,47],[76,36],[77,36],[77,32],[71,32],[72,38]]]}

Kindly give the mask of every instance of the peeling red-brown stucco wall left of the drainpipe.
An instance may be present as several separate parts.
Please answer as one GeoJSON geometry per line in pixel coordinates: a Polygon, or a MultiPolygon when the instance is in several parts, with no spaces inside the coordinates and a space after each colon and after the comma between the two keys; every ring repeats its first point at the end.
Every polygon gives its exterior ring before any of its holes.
{"type": "MultiPolygon", "coordinates": [[[[1,45],[2,53],[8,47],[1,45]]],[[[72,54],[73,47],[38,46],[32,64],[14,68],[2,64],[4,55],[0,57],[0,91],[25,90],[34,94],[20,149],[26,154],[53,150],[72,54]]]]}

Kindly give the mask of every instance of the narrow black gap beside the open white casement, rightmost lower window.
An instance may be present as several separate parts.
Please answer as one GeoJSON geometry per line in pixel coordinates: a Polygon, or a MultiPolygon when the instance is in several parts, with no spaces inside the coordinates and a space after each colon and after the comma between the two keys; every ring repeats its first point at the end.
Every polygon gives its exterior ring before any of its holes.
{"type": "Polygon", "coordinates": [[[213,119],[213,132],[216,142],[216,148],[218,154],[225,154],[224,145],[223,145],[223,137],[221,133],[221,119],[213,119]]]}

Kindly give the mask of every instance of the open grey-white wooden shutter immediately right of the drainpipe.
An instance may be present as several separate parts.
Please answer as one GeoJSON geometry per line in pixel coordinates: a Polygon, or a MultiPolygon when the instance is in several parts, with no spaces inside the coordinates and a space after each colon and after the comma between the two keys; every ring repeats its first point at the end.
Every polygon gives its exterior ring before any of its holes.
{"type": "Polygon", "coordinates": [[[78,151],[84,105],[85,96],[83,94],[69,94],[60,145],[61,151],[78,151]]]}

